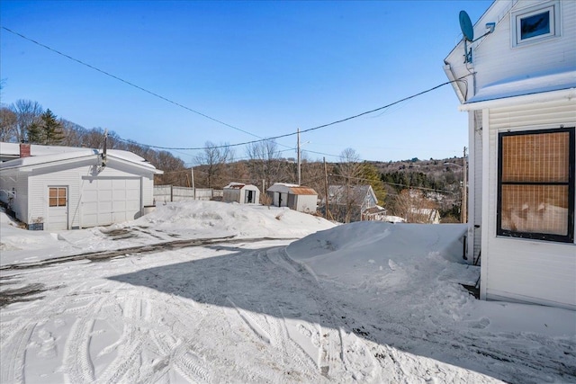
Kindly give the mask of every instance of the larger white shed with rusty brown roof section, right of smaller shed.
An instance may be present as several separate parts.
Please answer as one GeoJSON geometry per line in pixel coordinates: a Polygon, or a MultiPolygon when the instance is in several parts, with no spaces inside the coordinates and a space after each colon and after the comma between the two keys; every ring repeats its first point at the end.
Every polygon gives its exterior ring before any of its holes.
{"type": "Polygon", "coordinates": [[[318,206],[318,193],[302,185],[274,183],[266,193],[275,207],[314,213],[318,206]]]}

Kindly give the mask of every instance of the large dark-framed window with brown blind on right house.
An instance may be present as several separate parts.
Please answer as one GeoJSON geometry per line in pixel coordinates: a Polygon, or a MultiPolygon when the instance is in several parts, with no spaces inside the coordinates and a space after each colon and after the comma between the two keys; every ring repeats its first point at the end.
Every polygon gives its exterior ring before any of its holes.
{"type": "Polygon", "coordinates": [[[500,236],[573,242],[574,128],[499,135],[500,236]]]}

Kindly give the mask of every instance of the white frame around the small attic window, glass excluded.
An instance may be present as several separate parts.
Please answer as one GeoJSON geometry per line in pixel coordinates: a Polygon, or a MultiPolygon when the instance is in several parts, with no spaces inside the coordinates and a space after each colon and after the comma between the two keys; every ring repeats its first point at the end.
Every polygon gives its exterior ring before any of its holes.
{"type": "Polygon", "coordinates": [[[512,31],[512,47],[522,47],[533,42],[553,39],[561,35],[560,2],[558,0],[520,9],[510,14],[510,30],[512,31]],[[545,34],[522,39],[522,20],[538,13],[549,13],[550,31],[545,34]]]}

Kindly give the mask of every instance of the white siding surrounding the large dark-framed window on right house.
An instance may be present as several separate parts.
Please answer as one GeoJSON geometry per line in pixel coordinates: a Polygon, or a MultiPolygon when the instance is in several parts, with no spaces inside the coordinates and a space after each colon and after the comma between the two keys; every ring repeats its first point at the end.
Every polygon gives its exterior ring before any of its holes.
{"type": "Polygon", "coordinates": [[[576,309],[576,245],[496,237],[498,133],[576,126],[576,100],[484,111],[482,299],[518,299],[576,309]],[[543,119],[543,116],[545,119],[543,119]],[[488,122],[488,123],[487,123],[488,122]],[[489,219],[490,218],[490,219],[489,219]]]}

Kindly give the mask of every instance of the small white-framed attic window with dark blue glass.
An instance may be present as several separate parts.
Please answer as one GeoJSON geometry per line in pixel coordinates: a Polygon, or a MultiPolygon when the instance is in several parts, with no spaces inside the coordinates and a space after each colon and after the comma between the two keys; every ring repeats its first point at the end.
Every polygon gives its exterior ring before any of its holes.
{"type": "Polygon", "coordinates": [[[512,13],[512,46],[560,36],[560,4],[558,1],[512,13]]]}

